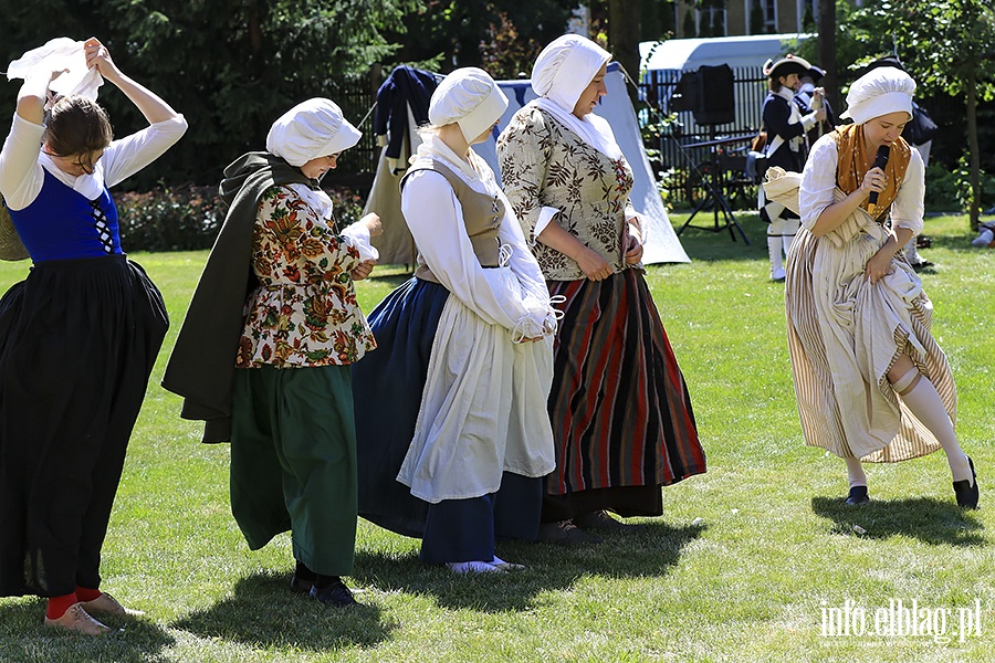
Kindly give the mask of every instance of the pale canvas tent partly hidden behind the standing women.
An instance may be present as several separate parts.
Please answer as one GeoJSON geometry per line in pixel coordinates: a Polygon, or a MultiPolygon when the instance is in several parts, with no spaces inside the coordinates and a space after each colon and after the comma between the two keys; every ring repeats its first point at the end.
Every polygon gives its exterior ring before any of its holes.
{"type": "MultiPolygon", "coordinates": [[[[642,262],[646,264],[691,262],[670,224],[667,209],[657,190],[652,168],[642,146],[636,110],[626,93],[625,75],[617,63],[612,62],[608,65],[608,76],[605,82],[608,95],[601,98],[595,113],[611,124],[615,138],[636,176],[636,185],[630,199],[636,211],[645,215],[648,227],[645,229],[646,245],[642,262]]],[[[473,149],[490,164],[500,179],[501,170],[498,166],[496,154],[498,134],[507,126],[519,108],[534,99],[536,94],[532,90],[532,83],[527,80],[499,81],[498,84],[509,98],[507,109],[491,138],[485,143],[474,145],[473,149]]],[[[419,140],[412,123],[408,125],[408,140],[410,145],[417,147],[419,140]]],[[[412,152],[415,147],[411,149],[412,152]]],[[[380,252],[380,263],[413,263],[411,234],[408,232],[400,212],[398,183],[402,176],[402,171],[392,171],[387,159],[381,156],[364,210],[364,213],[377,212],[384,223],[384,234],[374,240],[374,245],[380,252]]]]}

